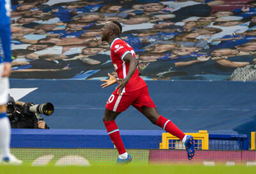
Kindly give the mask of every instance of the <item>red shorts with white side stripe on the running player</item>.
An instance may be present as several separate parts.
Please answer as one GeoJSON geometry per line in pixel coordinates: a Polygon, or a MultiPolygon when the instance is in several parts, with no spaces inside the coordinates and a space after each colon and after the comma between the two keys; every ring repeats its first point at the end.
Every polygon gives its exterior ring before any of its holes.
{"type": "Polygon", "coordinates": [[[111,111],[123,112],[129,106],[133,106],[141,112],[141,107],[156,107],[153,100],[148,94],[148,87],[145,86],[140,90],[125,92],[122,95],[117,94],[118,90],[115,90],[112,95],[110,95],[106,108],[111,111]]]}

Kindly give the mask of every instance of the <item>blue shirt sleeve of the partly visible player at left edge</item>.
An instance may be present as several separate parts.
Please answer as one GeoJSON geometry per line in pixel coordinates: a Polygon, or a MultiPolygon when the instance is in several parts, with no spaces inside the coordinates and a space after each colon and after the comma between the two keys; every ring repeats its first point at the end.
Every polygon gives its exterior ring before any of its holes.
{"type": "Polygon", "coordinates": [[[6,1],[0,0],[0,39],[4,52],[3,61],[11,62],[11,29],[10,29],[10,7],[5,5],[6,1]]]}

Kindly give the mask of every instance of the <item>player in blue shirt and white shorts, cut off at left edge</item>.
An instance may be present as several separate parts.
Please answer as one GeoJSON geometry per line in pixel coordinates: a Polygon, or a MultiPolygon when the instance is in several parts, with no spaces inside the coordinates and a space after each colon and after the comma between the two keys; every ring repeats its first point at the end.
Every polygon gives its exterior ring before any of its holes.
{"type": "Polygon", "coordinates": [[[10,154],[10,122],[6,115],[6,103],[8,100],[8,77],[11,72],[11,31],[10,31],[10,0],[0,0],[0,148],[2,150],[3,164],[22,164],[10,154]],[[0,54],[1,55],[1,54],[0,54]]]}

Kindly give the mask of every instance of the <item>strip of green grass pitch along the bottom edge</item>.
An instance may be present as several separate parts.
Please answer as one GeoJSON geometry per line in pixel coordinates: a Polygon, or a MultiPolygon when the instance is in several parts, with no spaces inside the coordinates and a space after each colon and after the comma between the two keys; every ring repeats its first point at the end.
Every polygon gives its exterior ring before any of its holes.
{"type": "Polygon", "coordinates": [[[113,174],[143,174],[143,173],[256,173],[256,166],[155,166],[155,165],[145,165],[145,166],[93,166],[93,167],[31,167],[31,166],[0,166],[1,174],[19,173],[19,174],[65,174],[65,173],[113,173],[113,174]]]}

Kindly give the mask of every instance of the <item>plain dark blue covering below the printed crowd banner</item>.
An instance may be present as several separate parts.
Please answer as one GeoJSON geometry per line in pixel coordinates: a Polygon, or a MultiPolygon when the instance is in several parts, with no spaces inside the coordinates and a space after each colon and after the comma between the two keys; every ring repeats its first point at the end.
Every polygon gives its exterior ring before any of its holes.
{"type": "MultiPolygon", "coordinates": [[[[106,100],[115,89],[102,90],[100,81],[10,80],[11,88],[38,88],[24,102],[52,102],[55,111],[45,121],[52,129],[105,129],[106,100]]],[[[147,81],[159,113],[182,131],[250,134],[256,129],[256,86],[251,82],[147,81]]],[[[116,120],[120,129],[160,130],[129,107],[116,120]]]]}

